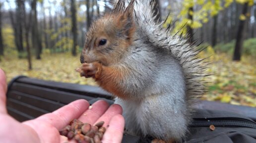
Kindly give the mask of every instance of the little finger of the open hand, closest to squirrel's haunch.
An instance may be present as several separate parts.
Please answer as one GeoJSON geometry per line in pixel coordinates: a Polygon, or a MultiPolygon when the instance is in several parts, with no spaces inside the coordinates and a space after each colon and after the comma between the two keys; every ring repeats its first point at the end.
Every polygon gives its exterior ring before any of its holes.
{"type": "Polygon", "coordinates": [[[104,133],[102,143],[121,143],[125,129],[125,119],[122,115],[115,115],[104,133]]]}

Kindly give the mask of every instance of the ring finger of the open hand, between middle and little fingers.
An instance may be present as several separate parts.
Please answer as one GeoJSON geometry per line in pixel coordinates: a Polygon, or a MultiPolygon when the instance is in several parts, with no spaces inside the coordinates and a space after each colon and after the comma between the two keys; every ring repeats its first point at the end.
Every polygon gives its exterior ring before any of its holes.
{"type": "Polygon", "coordinates": [[[122,112],[123,109],[119,104],[113,104],[95,123],[104,121],[103,127],[107,127],[109,125],[111,118],[113,118],[117,114],[122,114],[122,112]]]}

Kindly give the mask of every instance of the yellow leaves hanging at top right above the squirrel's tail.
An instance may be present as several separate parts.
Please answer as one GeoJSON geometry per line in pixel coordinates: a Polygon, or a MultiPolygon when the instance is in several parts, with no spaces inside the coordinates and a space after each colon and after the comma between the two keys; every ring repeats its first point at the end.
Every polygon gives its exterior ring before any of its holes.
{"type": "MultiPolygon", "coordinates": [[[[197,29],[202,27],[202,23],[207,23],[210,17],[217,15],[221,10],[229,7],[232,2],[237,2],[240,4],[248,3],[249,6],[254,4],[254,0],[184,0],[182,3],[182,9],[179,15],[170,14],[164,24],[167,27],[170,23],[175,21],[175,27],[173,33],[179,33],[186,35],[187,26],[192,29],[197,29]],[[193,11],[190,9],[193,8],[193,11]],[[198,8],[199,7],[199,8],[198,8]],[[192,15],[193,19],[189,19],[188,15],[192,15]],[[180,20],[178,20],[180,19],[180,20]]],[[[250,14],[240,15],[240,20],[246,20],[250,17],[250,14]]]]}

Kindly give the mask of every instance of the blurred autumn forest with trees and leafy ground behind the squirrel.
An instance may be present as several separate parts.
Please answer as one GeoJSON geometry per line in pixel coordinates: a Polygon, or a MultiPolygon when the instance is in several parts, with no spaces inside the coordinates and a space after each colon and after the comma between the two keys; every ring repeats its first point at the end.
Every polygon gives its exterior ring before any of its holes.
{"type": "MultiPolygon", "coordinates": [[[[256,107],[256,0],[156,0],[172,33],[205,48],[211,64],[202,97],[256,107]]],[[[0,68],[18,75],[97,86],[79,77],[79,55],[91,22],[107,0],[0,0],[0,68]]]]}

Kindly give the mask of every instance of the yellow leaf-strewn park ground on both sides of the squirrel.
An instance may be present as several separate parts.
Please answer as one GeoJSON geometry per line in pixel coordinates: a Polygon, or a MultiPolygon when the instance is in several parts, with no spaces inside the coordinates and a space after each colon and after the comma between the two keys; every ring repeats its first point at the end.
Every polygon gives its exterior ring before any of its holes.
{"type": "MultiPolygon", "coordinates": [[[[202,97],[205,100],[248,105],[256,107],[256,58],[243,56],[242,61],[232,61],[226,53],[215,53],[212,48],[207,48],[200,53],[201,57],[209,57],[212,61],[207,72],[213,74],[206,77],[209,81],[209,91],[202,97]]],[[[50,54],[44,53],[41,60],[32,61],[33,70],[27,70],[26,59],[7,55],[0,61],[9,82],[17,75],[25,75],[44,80],[87,84],[96,86],[92,79],[80,78],[75,68],[80,66],[79,55],[71,56],[70,53],[50,54]]]]}

